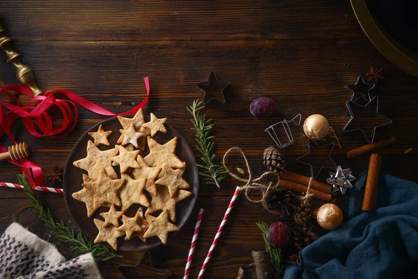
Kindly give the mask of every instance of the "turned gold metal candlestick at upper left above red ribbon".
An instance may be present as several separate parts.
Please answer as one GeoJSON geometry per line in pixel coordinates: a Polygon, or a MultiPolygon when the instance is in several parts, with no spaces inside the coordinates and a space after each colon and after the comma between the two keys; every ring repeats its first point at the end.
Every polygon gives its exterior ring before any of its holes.
{"type": "Polygon", "coordinates": [[[8,63],[15,66],[16,69],[16,78],[20,84],[28,86],[33,96],[39,96],[43,93],[42,90],[36,84],[36,75],[31,68],[22,64],[20,61],[20,54],[12,50],[13,40],[6,37],[4,34],[6,30],[3,29],[3,26],[0,24],[0,48],[6,54],[8,63]]]}

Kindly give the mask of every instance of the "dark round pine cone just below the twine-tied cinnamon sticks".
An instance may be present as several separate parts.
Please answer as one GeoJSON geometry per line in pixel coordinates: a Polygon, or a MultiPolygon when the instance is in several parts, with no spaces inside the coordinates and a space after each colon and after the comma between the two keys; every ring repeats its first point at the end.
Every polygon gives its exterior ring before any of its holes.
{"type": "Polygon", "coordinates": [[[295,209],[297,206],[297,198],[295,193],[285,188],[277,188],[272,190],[266,199],[268,209],[271,211],[279,211],[280,217],[284,217],[284,213],[289,214],[289,208],[295,209]]]}

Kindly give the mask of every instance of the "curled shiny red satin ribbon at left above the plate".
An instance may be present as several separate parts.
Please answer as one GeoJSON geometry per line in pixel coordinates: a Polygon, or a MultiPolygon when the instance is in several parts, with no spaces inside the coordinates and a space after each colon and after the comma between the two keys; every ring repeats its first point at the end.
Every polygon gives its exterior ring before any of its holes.
{"type": "MultiPolygon", "coordinates": [[[[95,103],[78,96],[76,93],[63,89],[46,91],[42,94],[42,96],[33,97],[25,106],[21,107],[19,100],[17,100],[17,98],[10,93],[10,91],[32,96],[33,93],[31,89],[21,85],[5,86],[0,88],[0,92],[3,91],[10,94],[10,96],[15,99],[16,105],[0,103],[0,138],[6,133],[10,140],[13,140],[13,142],[17,144],[15,138],[10,134],[10,126],[12,126],[17,117],[22,117],[26,129],[29,130],[29,133],[31,133],[34,137],[65,137],[65,135],[68,135],[78,122],[78,109],[76,104],[85,107],[91,112],[106,116],[135,114],[148,102],[150,95],[148,77],[144,77],[144,83],[146,87],[146,98],[132,110],[128,110],[127,112],[123,112],[121,114],[114,114],[113,112],[100,107],[100,105],[96,105],[95,103]],[[54,93],[61,93],[70,100],[56,99],[54,93]],[[3,107],[6,107],[8,112],[4,112],[3,107]],[[48,111],[52,107],[58,107],[63,114],[63,123],[59,128],[54,128],[54,120],[52,119],[52,116],[48,114],[48,111]]],[[[0,152],[2,153],[6,151],[7,149],[0,143],[0,152]]],[[[39,165],[36,165],[26,158],[19,161],[8,159],[8,161],[22,168],[22,171],[29,177],[32,188],[42,184],[42,169],[39,165]]]]}

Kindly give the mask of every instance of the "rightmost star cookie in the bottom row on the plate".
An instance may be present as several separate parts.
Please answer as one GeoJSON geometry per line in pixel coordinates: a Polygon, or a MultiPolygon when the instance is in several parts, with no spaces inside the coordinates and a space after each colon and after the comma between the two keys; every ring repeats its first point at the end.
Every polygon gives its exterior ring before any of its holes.
{"type": "Polygon", "coordinates": [[[180,229],[169,222],[169,211],[164,210],[155,218],[152,215],[145,214],[146,220],[150,223],[150,227],[144,234],[145,239],[157,236],[161,242],[166,245],[169,232],[178,232],[180,229]]]}

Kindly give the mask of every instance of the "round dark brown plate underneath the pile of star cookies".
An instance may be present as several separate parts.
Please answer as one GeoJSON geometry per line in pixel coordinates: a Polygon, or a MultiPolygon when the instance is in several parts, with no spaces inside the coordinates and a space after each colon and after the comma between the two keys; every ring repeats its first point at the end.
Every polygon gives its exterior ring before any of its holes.
{"type": "MultiPolygon", "coordinates": [[[[64,198],[65,198],[65,203],[67,204],[67,207],[68,207],[68,211],[70,211],[72,219],[75,220],[75,223],[77,223],[77,225],[82,230],[82,232],[84,232],[84,234],[86,234],[90,239],[95,239],[95,236],[99,232],[93,223],[93,218],[100,218],[101,220],[103,220],[103,218],[100,217],[100,213],[106,212],[109,209],[105,207],[100,207],[100,209],[98,209],[98,211],[94,213],[92,218],[87,217],[85,204],[83,202],[79,202],[77,199],[74,199],[72,197],[72,193],[82,190],[82,183],[83,183],[82,174],[83,173],[87,174],[87,172],[84,171],[83,169],[79,169],[75,167],[74,165],[72,165],[72,162],[87,156],[87,153],[86,153],[87,142],[88,140],[92,140],[92,138],[87,133],[97,131],[100,124],[103,125],[104,130],[113,130],[114,133],[112,133],[108,137],[111,146],[100,145],[99,149],[100,150],[111,149],[116,144],[116,141],[118,140],[118,137],[121,134],[119,133],[119,129],[122,128],[117,117],[109,118],[93,126],[93,128],[88,130],[72,148],[70,156],[68,156],[67,164],[65,165],[65,172],[63,176],[64,198]]],[[[176,216],[177,216],[176,226],[182,229],[183,225],[185,225],[187,219],[192,213],[194,204],[196,203],[197,193],[199,191],[199,173],[197,171],[196,160],[194,159],[192,150],[190,149],[185,139],[170,126],[166,125],[166,128],[167,128],[167,134],[157,133],[154,139],[157,140],[157,142],[159,142],[160,144],[165,144],[166,142],[171,140],[173,137],[178,137],[176,155],[178,156],[178,158],[180,158],[180,160],[183,160],[186,163],[186,170],[185,170],[183,179],[185,179],[185,181],[187,181],[187,183],[190,184],[189,190],[192,191],[193,193],[191,197],[188,197],[187,199],[184,199],[183,201],[178,202],[178,204],[176,205],[176,216]]],[[[141,152],[141,156],[143,157],[146,156],[148,152],[149,151],[148,151],[148,146],[147,146],[146,150],[141,152]]],[[[116,173],[120,174],[118,167],[114,167],[114,168],[116,170],[116,173]]],[[[119,209],[119,208],[116,207],[116,209],[119,209]]],[[[131,208],[127,211],[126,215],[134,216],[134,213],[137,212],[138,209],[139,209],[139,205],[131,206],[131,208]]],[[[146,207],[143,207],[143,210],[145,212],[146,207]]],[[[153,214],[153,215],[157,215],[157,214],[153,214]]],[[[174,235],[175,234],[171,233],[170,237],[174,235]]],[[[141,239],[139,239],[138,237],[135,237],[134,239],[131,239],[130,241],[125,241],[123,237],[121,237],[118,239],[118,250],[119,251],[139,251],[139,250],[146,250],[146,249],[154,248],[155,246],[159,246],[160,244],[162,244],[162,242],[160,241],[160,239],[157,239],[157,237],[148,239],[146,243],[142,242],[141,239]]],[[[107,243],[104,245],[110,247],[107,243]]]]}

